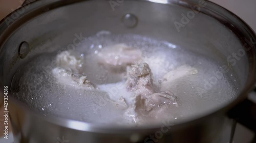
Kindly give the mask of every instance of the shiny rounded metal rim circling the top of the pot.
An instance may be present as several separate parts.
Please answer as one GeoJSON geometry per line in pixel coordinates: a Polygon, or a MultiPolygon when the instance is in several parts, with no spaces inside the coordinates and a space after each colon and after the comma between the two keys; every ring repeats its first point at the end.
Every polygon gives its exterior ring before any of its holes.
{"type": "MultiPolygon", "coordinates": [[[[22,22],[25,23],[26,21],[24,20],[20,20],[23,19],[23,17],[26,17],[27,14],[29,13],[33,13],[38,9],[45,9],[49,6],[52,6],[53,4],[58,4],[57,6],[54,5],[53,7],[51,7],[51,9],[55,9],[55,8],[59,8],[62,6],[66,6],[69,4],[73,4],[73,3],[78,3],[78,2],[83,2],[83,1],[92,1],[92,0],[70,0],[70,1],[61,1],[61,0],[45,0],[45,1],[35,1],[32,2],[30,4],[30,7],[28,8],[28,10],[23,13],[20,14],[20,17],[15,20],[11,25],[6,25],[5,24],[5,19],[10,18],[11,15],[15,12],[17,12],[19,9],[13,11],[11,14],[9,14],[7,17],[5,17],[4,19],[2,19],[0,21],[0,52],[1,49],[3,48],[3,45],[5,43],[5,41],[7,41],[7,39],[9,38],[9,36],[11,35],[11,33],[13,33],[16,28],[19,26],[17,23],[22,22]],[[13,28],[14,27],[14,28],[13,28]]],[[[134,0],[126,0],[126,1],[134,1],[134,0]]],[[[157,1],[154,0],[139,0],[139,1],[145,1],[145,2],[151,2],[151,3],[157,3],[157,1]]],[[[165,4],[167,5],[172,5],[172,4],[178,4],[180,5],[181,3],[183,4],[198,4],[200,0],[182,0],[182,1],[176,1],[176,0],[165,0],[165,4]]],[[[251,29],[251,27],[245,22],[243,21],[241,18],[239,18],[237,15],[233,14],[232,12],[228,11],[227,9],[209,2],[209,1],[205,1],[205,3],[207,3],[207,6],[205,7],[205,9],[210,10],[211,12],[215,12],[215,14],[219,14],[218,16],[222,16],[220,18],[218,17],[214,17],[216,20],[221,21],[223,24],[226,24],[226,26],[228,26],[228,28],[230,28],[231,30],[234,31],[234,33],[237,35],[237,37],[241,38],[242,35],[246,35],[247,37],[251,37],[254,41],[256,41],[256,35],[253,32],[253,30],[251,29]],[[218,10],[218,12],[217,12],[218,10]],[[220,13],[222,12],[222,13],[220,13]],[[232,24],[230,24],[230,19],[227,19],[227,17],[232,17],[234,18],[234,20],[236,20],[237,22],[239,22],[238,24],[242,24],[241,26],[232,26],[232,24]],[[225,21],[223,21],[223,18],[225,21]],[[242,34],[242,35],[241,35],[242,34]]],[[[25,5],[25,7],[27,6],[25,5]]],[[[51,10],[51,9],[47,9],[47,11],[51,10]]],[[[36,13],[34,13],[32,16],[29,17],[32,18],[34,16],[39,15],[40,13],[44,13],[45,11],[36,11],[36,13]]],[[[202,11],[201,11],[202,12],[202,11]]],[[[204,13],[204,12],[202,12],[204,13]]],[[[204,13],[207,14],[207,13],[204,13]]],[[[207,14],[208,15],[208,14],[207,14]]],[[[208,15],[209,16],[209,15],[208,15]]],[[[211,15],[210,15],[211,16],[211,15]]],[[[27,20],[29,20],[27,19],[27,20]]],[[[233,22],[231,20],[231,22],[233,22]]],[[[242,39],[241,39],[242,40],[242,39]]],[[[219,115],[219,114],[223,114],[226,113],[229,109],[231,109],[233,106],[235,106],[236,104],[238,104],[239,102],[242,102],[244,99],[246,99],[247,94],[254,88],[254,83],[256,81],[256,45],[253,45],[253,53],[248,53],[247,55],[250,56],[249,58],[249,62],[250,63],[250,69],[249,69],[249,75],[248,75],[248,79],[247,79],[247,83],[245,85],[245,88],[241,91],[240,95],[233,100],[230,103],[226,103],[227,105],[223,105],[222,108],[219,109],[215,109],[212,110],[208,113],[206,113],[205,115],[201,115],[201,116],[197,116],[196,118],[190,118],[187,120],[182,120],[181,122],[172,125],[172,124],[168,124],[169,126],[172,126],[172,128],[170,130],[176,130],[180,127],[183,126],[189,126],[189,125],[193,125],[195,123],[200,123],[205,119],[211,118],[215,115],[219,115]]],[[[0,83],[1,84],[1,83],[0,83]]],[[[0,87],[0,91],[4,91],[4,85],[1,85],[0,87]]],[[[9,93],[10,95],[10,93],[9,93]]],[[[155,124],[152,126],[139,126],[139,127],[134,127],[134,126],[109,126],[109,125],[96,125],[94,123],[86,123],[86,122],[80,122],[80,121],[75,121],[75,120],[70,120],[70,119],[63,119],[63,118],[58,118],[58,117],[54,117],[54,116],[43,116],[40,113],[37,113],[34,110],[31,110],[29,107],[27,107],[24,103],[18,101],[17,99],[13,98],[12,96],[9,96],[10,100],[12,102],[14,102],[15,104],[17,104],[18,106],[24,108],[26,111],[28,111],[29,114],[40,118],[42,120],[45,120],[49,123],[55,124],[55,125],[59,125],[62,127],[67,127],[70,129],[75,129],[75,130],[80,130],[80,131],[90,131],[90,132],[101,132],[101,133],[124,133],[124,132],[140,132],[140,131],[145,131],[145,130],[156,130],[159,129],[163,124],[155,124]]]]}

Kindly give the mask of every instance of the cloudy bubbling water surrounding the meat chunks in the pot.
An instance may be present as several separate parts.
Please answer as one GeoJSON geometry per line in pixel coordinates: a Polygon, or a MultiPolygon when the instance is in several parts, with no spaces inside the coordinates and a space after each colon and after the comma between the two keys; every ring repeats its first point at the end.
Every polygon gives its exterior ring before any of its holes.
{"type": "MultiPolygon", "coordinates": [[[[55,53],[40,54],[33,61],[21,67],[14,77],[18,81],[14,96],[45,116],[98,124],[132,125],[124,118],[123,110],[116,109],[110,102],[110,94],[129,96],[123,87],[121,73],[112,73],[99,66],[95,55],[101,49],[118,43],[125,43],[143,52],[144,61],[150,66],[154,84],[161,83],[161,77],[182,65],[198,70],[193,76],[179,78],[170,83],[170,90],[179,98],[180,106],[166,112],[173,121],[180,121],[221,107],[236,97],[232,74],[220,72],[220,65],[203,55],[187,51],[178,45],[137,35],[100,34],[86,39],[76,47],[77,56],[84,57],[84,75],[98,85],[101,91],[77,90],[57,82],[52,74],[56,67],[55,53]],[[106,83],[109,83],[105,85],[106,83]]],[[[156,121],[162,122],[162,121],[156,121]]]]}

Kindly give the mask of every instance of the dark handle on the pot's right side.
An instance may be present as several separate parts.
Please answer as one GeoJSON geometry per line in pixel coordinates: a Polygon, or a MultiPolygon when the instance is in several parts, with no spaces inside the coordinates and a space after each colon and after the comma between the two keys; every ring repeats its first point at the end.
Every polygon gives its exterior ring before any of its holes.
{"type": "Polygon", "coordinates": [[[228,112],[228,116],[256,133],[256,89],[228,112]]]}

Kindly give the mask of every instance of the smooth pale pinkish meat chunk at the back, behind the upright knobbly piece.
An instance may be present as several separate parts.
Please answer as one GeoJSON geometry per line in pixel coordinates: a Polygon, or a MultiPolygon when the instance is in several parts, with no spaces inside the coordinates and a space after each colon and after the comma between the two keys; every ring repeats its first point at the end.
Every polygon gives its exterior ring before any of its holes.
{"type": "Polygon", "coordinates": [[[126,66],[141,60],[142,52],[125,44],[116,44],[102,49],[98,58],[100,64],[111,70],[125,70],[126,66]]]}

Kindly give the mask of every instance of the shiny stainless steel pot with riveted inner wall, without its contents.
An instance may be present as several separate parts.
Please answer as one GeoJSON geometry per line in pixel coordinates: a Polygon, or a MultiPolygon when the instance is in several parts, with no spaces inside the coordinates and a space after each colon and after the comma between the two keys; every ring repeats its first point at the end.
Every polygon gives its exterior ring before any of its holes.
{"type": "Polygon", "coordinates": [[[176,125],[129,128],[45,117],[14,99],[9,92],[15,142],[219,143],[232,140],[234,119],[255,130],[255,117],[250,113],[240,116],[254,105],[247,95],[256,81],[256,36],[239,17],[208,1],[45,0],[27,4],[0,24],[1,92],[4,85],[12,90],[16,69],[33,56],[67,47],[73,43],[75,34],[87,37],[101,30],[170,41],[206,55],[220,65],[230,66],[227,58],[245,49],[246,54],[230,67],[239,81],[239,96],[204,116],[176,125]]]}

